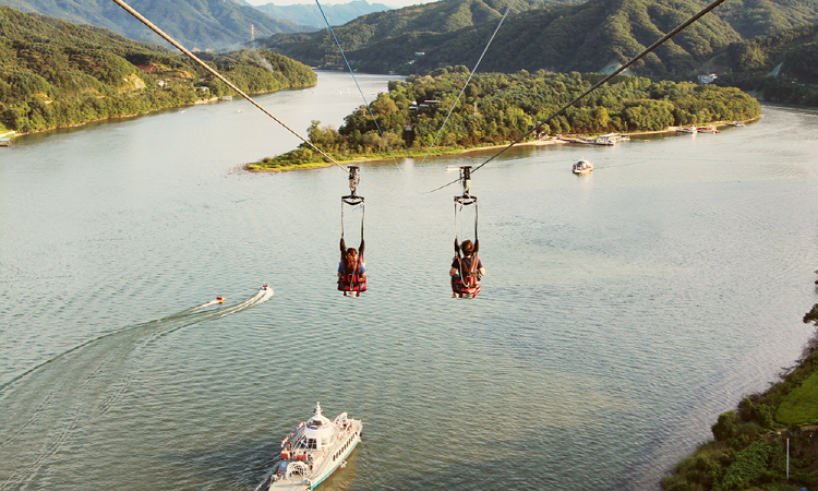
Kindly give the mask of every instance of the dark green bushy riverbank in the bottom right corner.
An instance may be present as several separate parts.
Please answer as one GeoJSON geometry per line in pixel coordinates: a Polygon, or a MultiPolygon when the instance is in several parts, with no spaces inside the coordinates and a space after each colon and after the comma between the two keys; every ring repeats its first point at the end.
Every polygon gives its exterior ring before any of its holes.
{"type": "MultiPolygon", "coordinates": [[[[818,303],[804,322],[818,325],[818,303]]],[[[662,479],[664,491],[818,489],[818,339],[780,382],[719,416],[712,433],[662,479]]]]}

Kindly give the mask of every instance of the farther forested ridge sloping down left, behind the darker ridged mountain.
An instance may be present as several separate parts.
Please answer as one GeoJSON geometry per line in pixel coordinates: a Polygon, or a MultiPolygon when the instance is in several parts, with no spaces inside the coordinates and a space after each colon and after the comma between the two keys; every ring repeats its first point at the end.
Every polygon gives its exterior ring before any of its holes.
{"type": "MultiPolygon", "coordinates": [[[[344,50],[376,46],[389,39],[456,33],[462,28],[496,22],[508,7],[507,0],[441,0],[434,3],[376,12],[335,27],[344,50]]],[[[561,3],[558,0],[516,0],[512,12],[521,13],[561,3]]],[[[488,38],[486,38],[488,39],[488,38]]],[[[310,64],[339,62],[338,48],[328,31],[310,34],[277,34],[263,40],[277,52],[310,64]]],[[[401,58],[401,63],[409,61],[401,58]]]]}

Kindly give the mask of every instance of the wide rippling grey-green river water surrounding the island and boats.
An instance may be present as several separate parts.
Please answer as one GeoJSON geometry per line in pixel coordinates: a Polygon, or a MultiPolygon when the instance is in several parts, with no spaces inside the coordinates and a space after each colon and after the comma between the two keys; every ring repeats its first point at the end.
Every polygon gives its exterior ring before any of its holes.
{"type": "MultiPolygon", "coordinates": [[[[361,101],[340,73],[258,100],[298,131],[361,101]]],[[[425,192],[489,154],[362,166],[351,299],[346,175],[241,171],[298,143],[246,101],[19,137],[0,489],[253,490],[316,402],[364,424],[324,490],[658,489],[814,333],[817,135],[815,112],[765,107],[718,135],[509,151],[473,176],[476,300],[449,298],[458,189],[425,192]]]]}

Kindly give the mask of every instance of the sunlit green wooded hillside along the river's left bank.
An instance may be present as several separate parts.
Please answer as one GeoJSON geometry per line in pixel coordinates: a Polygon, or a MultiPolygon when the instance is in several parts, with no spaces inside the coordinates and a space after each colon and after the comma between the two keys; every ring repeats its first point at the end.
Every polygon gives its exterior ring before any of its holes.
{"type": "MultiPolygon", "coordinates": [[[[203,57],[251,93],[316,81],[308,67],[270,51],[203,57]]],[[[40,131],[225,94],[222,82],[163,47],[0,7],[0,130],[40,131]]]]}

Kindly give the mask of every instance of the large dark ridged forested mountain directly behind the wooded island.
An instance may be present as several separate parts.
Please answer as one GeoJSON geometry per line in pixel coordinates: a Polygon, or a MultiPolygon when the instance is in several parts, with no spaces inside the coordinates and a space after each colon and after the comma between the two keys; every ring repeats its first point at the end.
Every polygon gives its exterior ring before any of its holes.
{"type": "MultiPolygon", "coordinates": [[[[510,17],[497,33],[481,71],[596,72],[627,61],[699,11],[693,0],[589,0],[510,17]]],[[[362,71],[423,72],[472,67],[494,25],[453,33],[404,35],[347,53],[362,71]],[[416,53],[423,52],[418,56],[416,53]],[[411,63],[411,64],[410,64],[411,63]]],[[[686,73],[742,36],[724,20],[707,15],[634,67],[636,73],[686,73]]]]}

